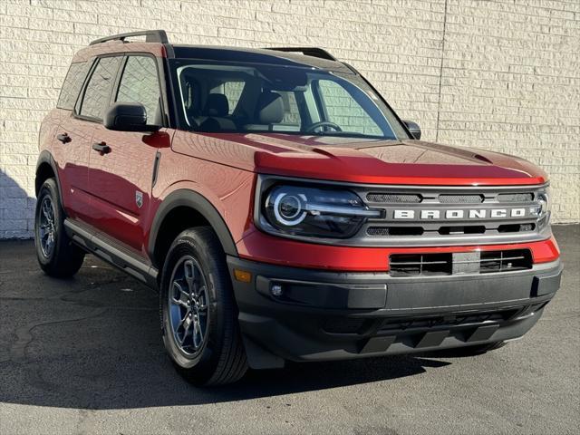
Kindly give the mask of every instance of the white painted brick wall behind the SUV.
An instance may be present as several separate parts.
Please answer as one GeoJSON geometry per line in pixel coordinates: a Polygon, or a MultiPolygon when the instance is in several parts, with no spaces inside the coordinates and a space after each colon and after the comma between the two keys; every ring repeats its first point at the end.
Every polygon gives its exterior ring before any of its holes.
{"type": "Polygon", "coordinates": [[[555,220],[580,220],[580,0],[0,0],[0,238],[32,235],[38,125],[73,53],[145,28],[324,47],[425,139],[541,165],[555,220]]]}

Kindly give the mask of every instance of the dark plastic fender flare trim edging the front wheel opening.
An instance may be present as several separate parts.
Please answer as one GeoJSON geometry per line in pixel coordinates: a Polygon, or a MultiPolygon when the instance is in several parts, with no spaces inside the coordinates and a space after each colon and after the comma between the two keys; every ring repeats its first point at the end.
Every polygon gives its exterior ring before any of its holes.
{"type": "Polygon", "coordinates": [[[218,209],[211,202],[198,192],[189,189],[178,189],[171,192],[167,198],[163,199],[160,207],[157,209],[155,218],[151,225],[150,236],[147,246],[149,257],[155,261],[155,245],[161,224],[174,208],[189,207],[196,210],[218,235],[219,242],[224,251],[229,256],[237,256],[236,242],[227,228],[226,221],[222,218],[218,209]]]}

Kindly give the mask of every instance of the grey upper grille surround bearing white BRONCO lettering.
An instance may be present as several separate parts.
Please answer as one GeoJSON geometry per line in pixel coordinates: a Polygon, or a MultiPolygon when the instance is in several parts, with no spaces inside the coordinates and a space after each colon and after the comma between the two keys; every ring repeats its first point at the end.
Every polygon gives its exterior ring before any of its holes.
{"type": "Polygon", "coordinates": [[[366,205],[382,209],[383,215],[363,225],[357,235],[359,245],[429,247],[543,240],[551,234],[549,226],[538,221],[532,209],[540,206],[539,193],[545,189],[546,185],[360,188],[357,193],[366,199],[366,205]],[[513,211],[515,216],[510,216],[513,209],[517,209],[513,211]],[[414,215],[396,219],[396,210],[411,210],[414,215]],[[498,210],[506,210],[507,216],[492,218],[491,214],[498,210]],[[522,210],[525,216],[518,217],[522,210]],[[421,212],[439,213],[440,218],[421,219],[421,212]],[[446,218],[448,212],[451,216],[462,213],[463,217],[446,218]]]}

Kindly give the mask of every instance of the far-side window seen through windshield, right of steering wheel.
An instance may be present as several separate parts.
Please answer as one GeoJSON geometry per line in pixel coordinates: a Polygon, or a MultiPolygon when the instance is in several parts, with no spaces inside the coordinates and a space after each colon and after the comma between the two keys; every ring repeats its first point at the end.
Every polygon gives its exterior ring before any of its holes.
{"type": "Polygon", "coordinates": [[[354,100],[343,86],[332,80],[318,81],[328,121],[340,125],[343,131],[381,136],[382,131],[371,116],[354,100]]]}

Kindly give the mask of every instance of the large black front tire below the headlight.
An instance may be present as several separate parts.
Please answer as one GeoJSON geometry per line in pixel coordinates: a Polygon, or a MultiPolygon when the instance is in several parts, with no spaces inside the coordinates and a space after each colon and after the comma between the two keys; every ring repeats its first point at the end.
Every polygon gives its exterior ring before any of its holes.
{"type": "Polygon", "coordinates": [[[189,382],[198,386],[226,384],[236,382],[247,372],[246,351],[237,323],[237,305],[226,255],[210,227],[187,229],[169,247],[161,275],[160,320],[169,357],[189,382]],[[183,273],[180,272],[182,266],[183,273]],[[187,272],[192,267],[197,267],[195,274],[187,272]],[[198,277],[195,282],[192,278],[190,281],[185,277],[178,279],[185,275],[198,277]],[[191,287],[196,289],[188,290],[191,296],[181,291],[191,287]],[[179,304],[176,304],[176,295],[179,295],[179,304]],[[186,300],[181,301],[182,297],[186,300]],[[191,317],[192,306],[204,306],[204,297],[207,317],[203,317],[201,311],[194,313],[193,322],[187,324],[191,328],[188,330],[184,327],[185,317],[191,317]],[[198,304],[198,301],[201,302],[198,304]],[[179,321],[181,317],[183,320],[179,321]],[[203,334],[197,333],[204,328],[203,334]],[[203,339],[196,346],[195,338],[199,342],[199,336],[203,339]]]}

